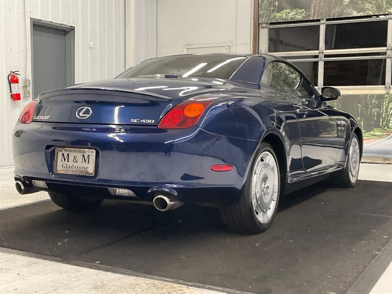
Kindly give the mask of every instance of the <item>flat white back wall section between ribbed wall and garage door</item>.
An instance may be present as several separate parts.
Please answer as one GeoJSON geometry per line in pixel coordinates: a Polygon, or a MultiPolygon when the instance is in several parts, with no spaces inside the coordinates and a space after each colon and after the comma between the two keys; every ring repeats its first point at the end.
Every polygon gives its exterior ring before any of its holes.
{"type": "Polygon", "coordinates": [[[252,0],[158,0],[157,55],[249,53],[252,0]]]}

